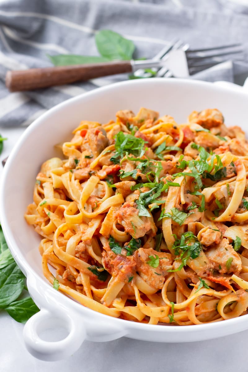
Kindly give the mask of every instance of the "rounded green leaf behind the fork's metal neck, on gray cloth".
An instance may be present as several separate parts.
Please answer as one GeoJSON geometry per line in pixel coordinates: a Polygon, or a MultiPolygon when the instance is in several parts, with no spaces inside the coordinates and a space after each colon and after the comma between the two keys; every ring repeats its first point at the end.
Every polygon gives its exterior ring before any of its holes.
{"type": "Polygon", "coordinates": [[[109,60],[131,60],[135,45],[117,32],[101,30],[95,36],[99,53],[109,60]]]}

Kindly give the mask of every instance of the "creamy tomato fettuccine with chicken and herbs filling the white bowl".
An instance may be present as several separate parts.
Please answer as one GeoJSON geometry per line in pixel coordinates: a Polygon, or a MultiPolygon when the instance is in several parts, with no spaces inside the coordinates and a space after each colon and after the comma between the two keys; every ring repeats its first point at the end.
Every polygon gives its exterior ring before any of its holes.
{"type": "Polygon", "coordinates": [[[247,314],[248,142],[217,109],[186,124],[141,108],[82,121],[36,177],[25,218],[47,280],[148,324],[247,314]]]}

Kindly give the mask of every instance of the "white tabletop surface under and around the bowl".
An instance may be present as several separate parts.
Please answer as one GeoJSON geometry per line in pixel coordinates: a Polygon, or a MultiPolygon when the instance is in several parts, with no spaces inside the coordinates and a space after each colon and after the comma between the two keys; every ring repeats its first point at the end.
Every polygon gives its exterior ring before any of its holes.
{"type": "MultiPolygon", "coordinates": [[[[1,129],[9,155],[23,129],[1,129]]],[[[2,167],[0,165],[0,176],[2,167]]],[[[57,362],[35,359],[25,348],[23,324],[0,310],[0,372],[235,372],[248,371],[248,331],[220,339],[180,344],[122,338],[106,343],[84,341],[71,357],[57,362]]]]}

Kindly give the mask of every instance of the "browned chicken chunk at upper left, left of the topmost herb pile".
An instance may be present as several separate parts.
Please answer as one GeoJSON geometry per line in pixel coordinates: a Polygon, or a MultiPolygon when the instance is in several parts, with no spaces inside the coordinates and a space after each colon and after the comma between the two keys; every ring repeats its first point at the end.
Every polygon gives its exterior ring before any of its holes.
{"type": "Polygon", "coordinates": [[[87,130],[82,147],[86,150],[91,150],[96,158],[103,150],[109,146],[109,140],[104,128],[90,128],[87,130]]]}

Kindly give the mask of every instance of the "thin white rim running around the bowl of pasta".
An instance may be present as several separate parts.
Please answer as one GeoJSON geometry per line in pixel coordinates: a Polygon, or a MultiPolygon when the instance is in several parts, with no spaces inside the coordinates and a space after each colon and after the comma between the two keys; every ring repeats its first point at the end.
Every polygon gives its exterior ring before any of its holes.
{"type": "MultiPolygon", "coordinates": [[[[58,105],[54,106],[53,108],[49,109],[47,112],[43,113],[39,118],[35,119],[35,121],[32,122],[26,128],[26,130],[23,132],[23,134],[20,136],[19,140],[16,142],[13,150],[11,151],[9,158],[6,162],[6,165],[3,169],[3,176],[1,177],[1,185],[0,185],[0,205],[4,205],[4,195],[7,192],[7,189],[5,188],[5,180],[8,177],[8,174],[12,170],[12,163],[15,159],[16,153],[19,151],[19,149],[22,147],[23,142],[25,142],[29,135],[35,131],[35,129],[42,124],[42,122],[46,121],[46,119],[49,118],[49,116],[54,115],[55,113],[59,112],[61,108],[67,108],[70,107],[70,105],[74,102],[78,101],[85,101],[87,99],[90,99],[91,97],[97,96],[97,94],[101,92],[111,92],[115,90],[118,87],[122,86],[132,86],[132,85],[153,85],[153,84],[168,84],[170,85],[176,85],[176,84],[182,84],[185,86],[195,86],[197,87],[203,87],[203,88],[209,88],[211,90],[219,90],[222,92],[229,91],[232,94],[240,95],[240,96],[247,96],[247,93],[240,91],[236,91],[235,89],[232,89],[231,86],[222,87],[218,86],[218,84],[214,84],[211,82],[206,81],[200,81],[200,80],[187,80],[187,79],[179,79],[179,78],[152,78],[152,79],[137,79],[137,80],[127,80],[127,81],[120,81],[117,83],[109,84],[103,87],[99,87],[96,89],[93,89],[89,92],[85,92],[82,94],[79,94],[78,96],[71,97],[68,100],[65,100],[64,102],[59,103],[58,105]]],[[[172,325],[170,324],[170,327],[161,326],[160,324],[154,325],[154,324],[146,324],[146,323],[139,323],[135,321],[129,321],[124,320],[120,318],[114,318],[109,315],[102,314],[100,312],[97,312],[95,310],[92,310],[90,308],[84,307],[80,303],[74,301],[73,299],[67,297],[66,295],[62,294],[59,291],[54,291],[50,283],[41,276],[39,276],[38,273],[36,273],[35,269],[26,261],[21,249],[19,248],[17,242],[15,241],[15,238],[12,234],[11,228],[7,224],[7,218],[5,216],[5,210],[4,208],[0,208],[0,220],[1,220],[1,226],[3,229],[4,237],[6,239],[7,245],[10,248],[10,251],[12,252],[15,260],[17,261],[17,264],[19,264],[25,271],[27,278],[29,276],[32,276],[33,279],[36,280],[39,284],[41,284],[44,287],[44,291],[48,291],[52,294],[53,298],[56,300],[56,304],[54,304],[54,307],[57,308],[61,303],[64,303],[67,308],[73,308],[76,312],[81,312],[81,314],[84,316],[84,314],[92,316],[92,318],[98,316],[99,318],[102,318],[103,320],[108,320],[111,322],[116,322],[116,324],[123,325],[123,328],[126,329],[133,329],[133,330],[142,330],[149,333],[199,333],[199,331],[206,331],[206,330],[220,330],[222,328],[232,326],[233,324],[239,323],[244,324],[248,322],[248,314],[242,315],[242,317],[237,318],[231,318],[224,321],[214,321],[213,323],[205,323],[205,324],[194,324],[194,325],[187,325],[187,326],[178,326],[178,325],[172,325]],[[52,291],[52,292],[51,292],[52,291]],[[110,320],[111,319],[111,320],[110,320]]],[[[29,283],[30,284],[30,283],[29,283]]],[[[41,293],[40,293],[41,295],[41,293]]],[[[34,298],[35,299],[35,298],[34,298]]],[[[41,306],[43,308],[43,306],[41,306]]],[[[45,308],[45,306],[44,306],[45,308]]],[[[83,319],[83,317],[82,317],[83,319]]],[[[168,325],[168,324],[162,324],[162,325],[168,325]]],[[[244,328],[245,329],[245,328],[244,328]]],[[[233,333],[233,332],[232,332],[233,333]]]]}

